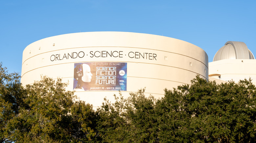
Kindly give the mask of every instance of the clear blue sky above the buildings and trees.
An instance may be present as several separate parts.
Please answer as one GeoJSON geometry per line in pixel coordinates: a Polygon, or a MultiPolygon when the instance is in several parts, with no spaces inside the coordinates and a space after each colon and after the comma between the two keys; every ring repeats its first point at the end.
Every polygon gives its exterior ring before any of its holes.
{"type": "Polygon", "coordinates": [[[0,62],[21,73],[27,45],[91,31],[161,35],[190,42],[213,60],[225,42],[242,41],[256,56],[254,0],[0,0],[0,62]]]}

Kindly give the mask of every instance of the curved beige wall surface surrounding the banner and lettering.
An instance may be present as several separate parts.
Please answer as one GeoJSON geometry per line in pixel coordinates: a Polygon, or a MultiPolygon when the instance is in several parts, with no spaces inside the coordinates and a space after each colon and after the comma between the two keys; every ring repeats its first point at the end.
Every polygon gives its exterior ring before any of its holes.
{"type": "MultiPolygon", "coordinates": [[[[69,82],[67,89],[73,90],[74,63],[81,62],[127,63],[127,90],[122,91],[125,97],[129,92],[146,87],[146,94],[159,98],[163,96],[164,88],[190,84],[197,74],[208,80],[208,56],[191,43],[141,33],[83,32],[45,38],[27,46],[23,51],[21,83],[24,86],[33,84],[41,75],[47,75],[69,82]],[[82,58],[56,60],[52,56],[81,51],[85,53],[83,57],[80,53],[82,58]],[[122,55],[91,57],[90,52],[95,51],[118,51],[122,55]],[[135,58],[130,52],[151,53],[151,57],[135,58]]],[[[100,106],[105,96],[113,100],[112,95],[118,91],[80,91],[75,94],[81,100],[100,106]]]]}

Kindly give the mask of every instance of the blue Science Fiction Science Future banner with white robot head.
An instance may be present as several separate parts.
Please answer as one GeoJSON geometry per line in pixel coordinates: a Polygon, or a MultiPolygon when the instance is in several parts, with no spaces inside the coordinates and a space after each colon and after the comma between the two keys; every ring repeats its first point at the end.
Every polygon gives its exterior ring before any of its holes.
{"type": "Polygon", "coordinates": [[[126,91],[127,63],[85,62],[75,63],[75,91],[126,91]]]}

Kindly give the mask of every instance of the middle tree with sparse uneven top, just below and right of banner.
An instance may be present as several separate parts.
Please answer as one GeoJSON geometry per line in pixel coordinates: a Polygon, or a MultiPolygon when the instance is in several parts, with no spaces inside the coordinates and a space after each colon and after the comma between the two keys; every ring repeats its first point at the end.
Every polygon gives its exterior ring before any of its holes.
{"type": "Polygon", "coordinates": [[[130,93],[124,99],[121,93],[115,103],[105,99],[98,109],[97,131],[101,142],[158,142],[155,99],[145,97],[145,89],[130,93]]]}

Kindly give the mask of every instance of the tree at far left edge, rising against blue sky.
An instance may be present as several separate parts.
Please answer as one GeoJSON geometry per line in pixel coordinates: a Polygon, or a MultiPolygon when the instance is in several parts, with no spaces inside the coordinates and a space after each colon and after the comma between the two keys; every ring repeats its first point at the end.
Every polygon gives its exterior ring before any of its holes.
{"type": "Polygon", "coordinates": [[[0,63],[0,143],[12,142],[12,119],[24,105],[25,90],[19,79],[18,73],[8,73],[0,63]]]}

